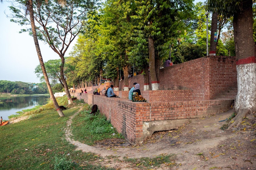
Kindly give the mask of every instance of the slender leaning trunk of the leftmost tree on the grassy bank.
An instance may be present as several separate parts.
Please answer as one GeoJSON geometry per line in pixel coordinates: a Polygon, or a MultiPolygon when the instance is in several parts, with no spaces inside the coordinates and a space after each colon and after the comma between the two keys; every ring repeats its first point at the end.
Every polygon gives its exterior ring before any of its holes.
{"type": "Polygon", "coordinates": [[[47,76],[47,73],[46,73],[46,70],[45,70],[45,65],[44,65],[43,57],[41,55],[41,50],[40,50],[38,39],[37,39],[37,35],[36,35],[36,27],[35,27],[34,12],[33,12],[33,1],[32,0],[28,0],[28,5],[29,5],[28,10],[29,10],[29,15],[30,15],[32,34],[33,34],[33,38],[34,38],[34,43],[35,43],[38,59],[39,59],[39,62],[40,62],[40,65],[41,65],[41,68],[42,68],[42,71],[43,71],[43,74],[44,74],[44,77],[45,77],[45,82],[46,82],[46,85],[48,87],[48,90],[49,90],[49,93],[50,93],[50,97],[52,99],[54,107],[56,108],[59,116],[60,117],[64,117],[65,115],[63,114],[62,110],[59,108],[59,105],[58,105],[58,103],[57,103],[57,101],[56,101],[56,99],[55,99],[55,97],[53,95],[52,88],[51,88],[51,85],[50,85],[50,82],[49,82],[49,79],[48,79],[48,76],[47,76]]]}

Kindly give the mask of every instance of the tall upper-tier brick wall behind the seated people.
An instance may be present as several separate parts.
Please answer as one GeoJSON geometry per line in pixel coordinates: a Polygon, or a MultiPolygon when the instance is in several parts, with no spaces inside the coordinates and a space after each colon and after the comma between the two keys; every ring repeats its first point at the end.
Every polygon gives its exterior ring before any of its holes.
{"type": "MultiPolygon", "coordinates": [[[[122,81],[122,80],[121,80],[122,81]]],[[[143,75],[129,79],[143,91],[143,75]]],[[[123,89],[120,83],[119,90],[123,89]]],[[[207,56],[160,69],[160,90],[191,90],[193,100],[212,100],[220,93],[237,87],[236,57],[207,56]]],[[[151,83],[150,83],[151,89],[151,83]]]]}

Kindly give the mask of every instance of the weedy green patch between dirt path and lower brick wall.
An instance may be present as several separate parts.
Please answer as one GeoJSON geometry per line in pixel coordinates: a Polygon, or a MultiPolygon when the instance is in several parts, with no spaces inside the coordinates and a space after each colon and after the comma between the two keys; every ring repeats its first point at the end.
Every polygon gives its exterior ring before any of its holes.
{"type": "Polygon", "coordinates": [[[110,121],[99,113],[99,110],[95,116],[89,114],[90,110],[91,107],[87,107],[72,119],[74,140],[93,145],[95,141],[106,138],[124,139],[124,136],[117,132],[110,121]]]}

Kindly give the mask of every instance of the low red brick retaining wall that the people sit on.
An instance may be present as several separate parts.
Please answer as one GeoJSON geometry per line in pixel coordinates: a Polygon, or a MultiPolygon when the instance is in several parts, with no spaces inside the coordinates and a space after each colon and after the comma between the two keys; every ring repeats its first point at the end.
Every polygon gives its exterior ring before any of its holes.
{"type": "Polygon", "coordinates": [[[112,98],[93,94],[76,93],[79,100],[97,104],[111,124],[131,144],[139,144],[147,135],[143,134],[143,123],[150,121],[189,119],[214,114],[230,107],[234,100],[201,100],[170,102],[132,102],[128,99],[112,98]]]}

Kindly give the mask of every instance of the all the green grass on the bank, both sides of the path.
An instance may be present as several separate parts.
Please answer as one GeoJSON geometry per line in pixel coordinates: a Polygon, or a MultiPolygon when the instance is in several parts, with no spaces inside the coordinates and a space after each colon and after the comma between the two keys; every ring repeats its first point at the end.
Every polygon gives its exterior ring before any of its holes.
{"type": "MultiPolygon", "coordinates": [[[[90,115],[91,107],[83,101],[71,105],[67,105],[67,97],[59,97],[57,101],[68,108],[63,110],[65,117],[59,117],[49,101],[39,108],[23,110],[20,115],[28,115],[27,120],[0,126],[0,169],[114,170],[97,164],[103,160],[99,155],[76,151],[75,146],[66,141],[64,128],[69,117],[83,107],[83,111],[72,119],[75,140],[93,145],[97,140],[124,137],[99,111],[95,116],[90,115]]],[[[134,169],[151,169],[163,164],[171,167],[175,165],[174,158],[174,155],[160,155],[155,158],[127,158],[124,161],[132,164],[130,166],[134,169]]]]}

